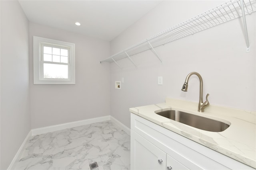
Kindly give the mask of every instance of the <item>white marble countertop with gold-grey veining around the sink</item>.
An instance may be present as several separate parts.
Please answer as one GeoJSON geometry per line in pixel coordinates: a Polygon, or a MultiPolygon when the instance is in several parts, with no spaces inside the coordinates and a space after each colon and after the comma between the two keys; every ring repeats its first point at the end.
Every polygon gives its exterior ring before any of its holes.
{"type": "Polygon", "coordinates": [[[208,106],[204,113],[197,111],[198,103],[166,98],[166,103],[130,108],[139,115],[166,129],[178,133],[210,149],[256,168],[256,112],[220,106],[208,106]],[[228,123],[222,132],[200,130],[155,113],[179,110],[228,123]]]}

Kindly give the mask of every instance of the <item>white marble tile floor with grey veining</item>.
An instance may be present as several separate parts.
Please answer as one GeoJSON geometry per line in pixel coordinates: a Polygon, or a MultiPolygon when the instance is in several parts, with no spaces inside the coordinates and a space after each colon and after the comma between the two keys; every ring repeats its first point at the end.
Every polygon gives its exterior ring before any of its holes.
{"type": "Polygon", "coordinates": [[[130,136],[111,121],[30,137],[15,170],[130,170],[130,136]]]}

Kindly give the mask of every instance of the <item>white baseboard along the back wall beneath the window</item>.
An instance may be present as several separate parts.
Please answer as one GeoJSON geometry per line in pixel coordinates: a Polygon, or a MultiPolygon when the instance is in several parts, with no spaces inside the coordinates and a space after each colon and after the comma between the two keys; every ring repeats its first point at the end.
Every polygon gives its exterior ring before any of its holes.
{"type": "Polygon", "coordinates": [[[103,117],[96,117],[96,118],[92,118],[92,119],[85,119],[85,120],[81,120],[81,121],[62,123],[59,125],[41,127],[41,128],[37,128],[37,129],[32,129],[31,131],[32,131],[32,136],[34,136],[34,135],[40,135],[42,133],[59,131],[62,129],[72,128],[72,127],[77,127],[77,126],[82,126],[82,125],[88,125],[91,123],[97,123],[97,122],[107,121],[107,120],[110,120],[110,115],[103,116],[103,117]]]}

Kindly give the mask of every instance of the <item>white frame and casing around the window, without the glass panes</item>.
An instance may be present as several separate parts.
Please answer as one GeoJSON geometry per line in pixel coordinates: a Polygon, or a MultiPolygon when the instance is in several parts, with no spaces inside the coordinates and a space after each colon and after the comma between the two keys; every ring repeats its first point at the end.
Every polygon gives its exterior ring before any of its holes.
{"type": "Polygon", "coordinates": [[[34,84],[75,84],[75,44],[33,36],[34,84]],[[44,78],[43,46],[68,49],[68,78],[44,78]]]}

